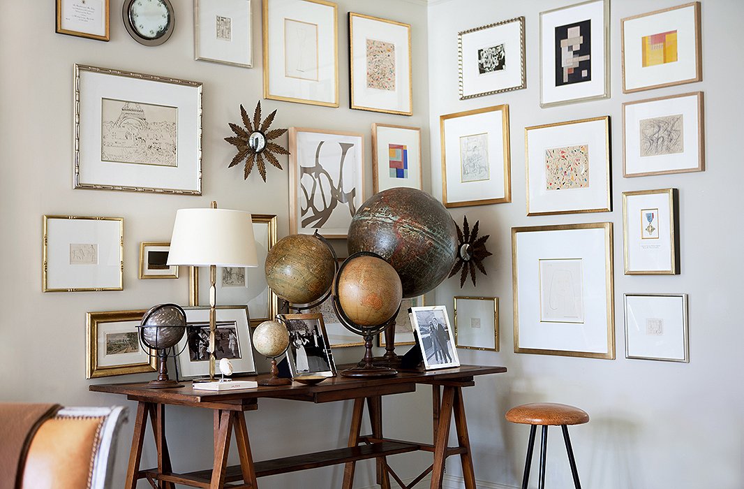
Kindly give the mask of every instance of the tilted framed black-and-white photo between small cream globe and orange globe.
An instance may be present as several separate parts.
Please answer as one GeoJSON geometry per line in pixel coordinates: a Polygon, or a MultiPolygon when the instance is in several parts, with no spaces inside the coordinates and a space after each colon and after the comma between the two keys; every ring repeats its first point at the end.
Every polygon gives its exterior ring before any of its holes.
{"type": "Polygon", "coordinates": [[[289,348],[286,359],[292,378],[336,377],[336,364],[323,322],[323,315],[281,314],[281,321],[289,331],[289,348]]]}

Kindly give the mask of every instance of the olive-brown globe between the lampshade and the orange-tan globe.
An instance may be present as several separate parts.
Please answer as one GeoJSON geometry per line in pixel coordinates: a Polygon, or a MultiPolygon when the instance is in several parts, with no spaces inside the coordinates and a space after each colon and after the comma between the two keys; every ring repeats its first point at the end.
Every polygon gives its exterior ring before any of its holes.
{"type": "Polygon", "coordinates": [[[291,304],[310,304],[333,284],[336,263],[318,238],[291,234],[266,255],[266,282],[276,295],[291,304]]]}

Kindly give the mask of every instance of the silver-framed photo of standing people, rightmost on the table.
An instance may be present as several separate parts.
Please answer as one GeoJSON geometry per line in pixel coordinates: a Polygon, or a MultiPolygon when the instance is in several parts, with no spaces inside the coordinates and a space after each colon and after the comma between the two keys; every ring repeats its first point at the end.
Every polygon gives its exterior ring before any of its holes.
{"type": "Polygon", "coordinates": [[[411,323],[426,370],[460,366],[455,334],[449,325],[445,306],[411,307],[411,323]]]}

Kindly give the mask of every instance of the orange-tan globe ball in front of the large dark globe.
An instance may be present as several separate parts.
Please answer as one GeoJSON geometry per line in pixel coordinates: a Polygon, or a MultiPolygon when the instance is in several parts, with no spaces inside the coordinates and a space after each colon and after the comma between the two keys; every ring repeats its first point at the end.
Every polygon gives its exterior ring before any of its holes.
{"type": "Polygon", "coordinates": [[[403,287],[390,263],[361,255],[349,258],[340,273],[336,295],[341,310],[354,325],[382,325],[393,318],[403,298],[403,287]]]}

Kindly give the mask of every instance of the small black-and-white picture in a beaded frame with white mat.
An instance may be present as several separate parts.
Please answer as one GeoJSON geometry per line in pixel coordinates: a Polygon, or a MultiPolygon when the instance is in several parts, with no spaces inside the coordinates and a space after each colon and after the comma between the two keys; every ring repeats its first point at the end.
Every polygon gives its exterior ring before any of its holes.
{"type": "Polygon", "coordinates": [[[527,88],[525,18],[458,33],[460,100],[527,88]]]}

